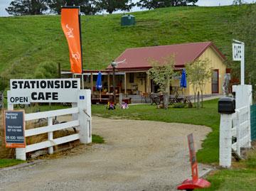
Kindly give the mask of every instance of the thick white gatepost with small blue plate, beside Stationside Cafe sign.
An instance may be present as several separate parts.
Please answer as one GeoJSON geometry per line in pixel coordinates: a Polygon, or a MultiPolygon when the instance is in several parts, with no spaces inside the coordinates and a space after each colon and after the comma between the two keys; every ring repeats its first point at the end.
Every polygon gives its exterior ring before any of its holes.
{"type": "Polygon", "coordinates": [[[90,89],[78,90],[78,120],[80,142],[92,143],[92,111],[90,89]]]}

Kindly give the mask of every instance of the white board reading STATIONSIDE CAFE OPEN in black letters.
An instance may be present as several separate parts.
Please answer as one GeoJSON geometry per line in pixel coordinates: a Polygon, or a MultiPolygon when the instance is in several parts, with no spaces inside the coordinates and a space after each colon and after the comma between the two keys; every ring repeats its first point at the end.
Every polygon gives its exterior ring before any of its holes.
{"type": "Polygon", "coordinates": [[[9,104],[77,102],[80,79],[10,80],[9,104]]]}

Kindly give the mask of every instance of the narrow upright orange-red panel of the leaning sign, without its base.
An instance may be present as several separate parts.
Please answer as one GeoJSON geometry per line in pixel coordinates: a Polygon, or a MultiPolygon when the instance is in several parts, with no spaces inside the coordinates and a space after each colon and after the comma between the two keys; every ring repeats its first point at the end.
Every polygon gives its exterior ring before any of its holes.
{"type": "Polygon", "coordinates": [[[192,171],[192,181],[198,181],[198,163],[196,161],[196,151],[195,151],[195,144],[193,141],[193,133],[188,135],[188,148],[190,154],[190,161],[191,161],[191,171],[192,171]]]}

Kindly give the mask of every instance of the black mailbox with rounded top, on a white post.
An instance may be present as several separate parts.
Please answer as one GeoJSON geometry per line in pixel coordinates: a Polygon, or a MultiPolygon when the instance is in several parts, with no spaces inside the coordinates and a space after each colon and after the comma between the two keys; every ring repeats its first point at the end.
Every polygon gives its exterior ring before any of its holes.
{"type": "Polygon", "coordinates": [[[235,113],[235,99],[233,97],[222,97],[218,101],[218,112],[220,114],[235,113]]]}

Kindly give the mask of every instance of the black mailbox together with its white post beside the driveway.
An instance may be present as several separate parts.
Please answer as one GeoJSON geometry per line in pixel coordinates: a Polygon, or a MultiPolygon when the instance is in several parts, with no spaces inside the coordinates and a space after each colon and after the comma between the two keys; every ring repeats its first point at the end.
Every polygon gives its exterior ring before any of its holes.
{"type": "Polygon", "coordinates": [[[220,113],[220,166],[230,168],[232,152],[232,114],[235,113],[235,99],[222,97],[218,101],[220,113]]]}

